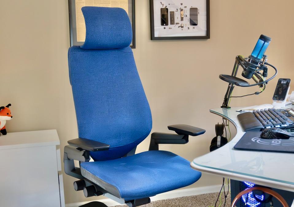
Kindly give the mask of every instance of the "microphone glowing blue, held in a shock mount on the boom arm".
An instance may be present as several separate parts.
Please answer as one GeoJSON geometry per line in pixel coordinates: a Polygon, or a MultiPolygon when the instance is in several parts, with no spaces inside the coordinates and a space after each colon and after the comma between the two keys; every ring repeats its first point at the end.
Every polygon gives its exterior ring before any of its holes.
{"type": "Polygon", "coordinates": [[[249,56],[248,61],[246,61],[245,66],[246,69],[243,70],[242,76],[247,79],[251,79],[254,75],[255,71],[258,69],[258,65],[265,54],[266,48],[268,48],[269,43],[271,41],[270,37],[265,35],[261,35],[249,56]]]}

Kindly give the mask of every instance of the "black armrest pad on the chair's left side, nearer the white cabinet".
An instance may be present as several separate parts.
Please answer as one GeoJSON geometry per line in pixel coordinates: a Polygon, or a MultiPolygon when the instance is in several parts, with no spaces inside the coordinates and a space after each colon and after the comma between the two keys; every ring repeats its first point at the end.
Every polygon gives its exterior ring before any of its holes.
{"type": "Polygon", "coordinates": [[[88,140],[84,138],[69,140],[68,144],[77,148],[81,148],[83,150],[87,150],[87,151],[108,150],[110,147],[109,144],[104,144],[102,142],[97,142],[94,140],[88,140]]]}

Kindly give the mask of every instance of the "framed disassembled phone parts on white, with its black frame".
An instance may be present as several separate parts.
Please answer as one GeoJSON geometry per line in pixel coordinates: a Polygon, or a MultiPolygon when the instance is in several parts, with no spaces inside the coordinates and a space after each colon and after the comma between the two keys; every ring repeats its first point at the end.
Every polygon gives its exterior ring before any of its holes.
{"type": "Polygon", "coordinates": [[[151,40],[209,39],[209,0],[150,0],[151,40]]]}

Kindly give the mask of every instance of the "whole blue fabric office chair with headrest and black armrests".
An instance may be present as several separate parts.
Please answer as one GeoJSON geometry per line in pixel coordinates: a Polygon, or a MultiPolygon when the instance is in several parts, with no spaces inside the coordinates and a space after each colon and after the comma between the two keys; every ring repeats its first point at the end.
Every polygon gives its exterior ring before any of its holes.
{"type": "Polygon", "coordinates": [[[168,126],[176,134],[154,132],[149,151],[135,154],[151,131],[152,118],[129,47],[132,27],[126,11],[103,7],[82,11],[85,43],[68,51],[79,138],[64,147],[65,173],[79,179],[75,190],[83,190],[86,197],[104,194],[135,207],[149,203],[150,196],[196,182],[201,173],[186,159],[158,150],[158,144],[186,144],[189,135],[203,134],[203,129],[168,126]],[[90,156],[95,162],[89,162],[90,156]]]}

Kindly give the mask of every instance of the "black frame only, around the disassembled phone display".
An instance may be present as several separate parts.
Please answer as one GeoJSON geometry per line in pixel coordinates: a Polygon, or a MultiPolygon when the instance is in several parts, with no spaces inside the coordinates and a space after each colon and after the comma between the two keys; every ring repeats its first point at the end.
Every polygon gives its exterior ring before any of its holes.
{"type": "MultiPolygon", "coordinates": [[[[150,32],[151,40],[191,40],[191,39],[210,39],[210,0],[206,0],[206,36],[154,36],[154,0],[149,0],[150,6],[150,32]]],[[[185,2],[185,0],[183,0],[185,2]]]]}

